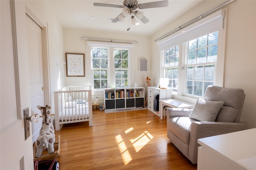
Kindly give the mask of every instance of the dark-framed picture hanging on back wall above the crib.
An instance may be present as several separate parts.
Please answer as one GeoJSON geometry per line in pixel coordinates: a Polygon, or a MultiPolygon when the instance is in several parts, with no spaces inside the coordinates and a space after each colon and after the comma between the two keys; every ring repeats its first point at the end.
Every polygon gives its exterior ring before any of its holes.
{"type": "Polygon", "coordinates": [[[67,77],[84,77],[84,54],[66,53],[66,73],[67,77]]]}

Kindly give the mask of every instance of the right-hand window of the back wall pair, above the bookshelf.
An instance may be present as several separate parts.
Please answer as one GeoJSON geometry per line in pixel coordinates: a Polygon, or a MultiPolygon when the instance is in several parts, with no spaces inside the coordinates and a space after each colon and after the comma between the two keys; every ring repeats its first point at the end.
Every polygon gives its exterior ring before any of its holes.
{"type": "Polygon", "coordinates": [[[128,87],[128,49],[114,49],[116,87],[128,87]]]}

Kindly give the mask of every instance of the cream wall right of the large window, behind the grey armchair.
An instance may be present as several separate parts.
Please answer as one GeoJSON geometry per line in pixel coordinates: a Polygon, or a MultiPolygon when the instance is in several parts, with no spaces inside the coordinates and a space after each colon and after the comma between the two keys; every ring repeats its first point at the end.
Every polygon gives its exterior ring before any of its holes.
{"type": "Polygon", "coordinates": [[[224,86],[244,89],[242,121],[256,127],[256,1],[228,6],[224,86]]]}

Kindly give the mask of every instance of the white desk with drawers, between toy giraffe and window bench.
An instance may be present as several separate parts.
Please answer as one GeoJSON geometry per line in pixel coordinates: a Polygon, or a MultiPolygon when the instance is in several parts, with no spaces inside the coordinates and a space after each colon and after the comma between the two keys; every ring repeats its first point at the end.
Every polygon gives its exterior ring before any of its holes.
{"type": "Polygon", "coordinates": [[[159,100],[161,99],[172,99],[172,89],[160,89],[158,87],[148,87],[148,110],[152,111],[156,115],[156,109],[154,109],[154,103],[156,102],[156,95],[159,95],[159,100]]]}

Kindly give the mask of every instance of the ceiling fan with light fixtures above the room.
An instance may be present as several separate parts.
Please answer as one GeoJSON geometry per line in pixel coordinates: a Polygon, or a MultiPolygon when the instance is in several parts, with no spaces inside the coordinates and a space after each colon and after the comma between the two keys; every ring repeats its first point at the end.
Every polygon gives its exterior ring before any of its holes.
{"type": "Polygon", "coordinates": [[[94,3],[93,5],[94,6],[123,8],[122,13],[120,15],[118,15],[114,20],[112,20],[112,22],[118,22],[118,21],[123,22],[127,16],[131,15],[131,24],[134,25],[137,23],[137,20],[134,18],[134,16],[136,16],[138,19],[140,19],[144,24],[149,22],[148,18],[146,18],[144,16],[144,12],[140,12],[136,9],[167,7],[168,0],[157,1],[157,2],[148,2],[148,3],[143,3],[143,4],[138,4],[137,0],[124,0],[123,5],[102,4],[102,3],[94,3]]]}

